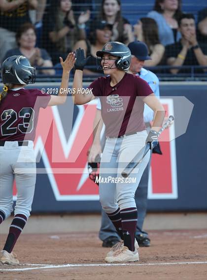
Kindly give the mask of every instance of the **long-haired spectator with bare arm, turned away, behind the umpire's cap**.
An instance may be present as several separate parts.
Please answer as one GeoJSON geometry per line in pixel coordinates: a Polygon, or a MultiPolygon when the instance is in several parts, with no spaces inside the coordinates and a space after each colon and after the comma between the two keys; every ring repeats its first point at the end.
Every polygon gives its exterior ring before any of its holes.
{"type": "Polygon", "coordinates": [[[161,64],[165,47],[160,43],[156,21],[151,18],[140,18],[134,25],[134,35],[138,41],[144,42],[149,50],[150,60],[146,60],[144,66],[161,64]]]}

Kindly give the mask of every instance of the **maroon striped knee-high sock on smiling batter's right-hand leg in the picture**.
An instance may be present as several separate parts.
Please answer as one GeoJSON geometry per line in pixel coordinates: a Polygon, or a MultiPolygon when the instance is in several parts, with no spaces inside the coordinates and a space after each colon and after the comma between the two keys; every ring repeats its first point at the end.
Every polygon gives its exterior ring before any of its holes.
{"type": "Polygon", "coordinates": [[[135,232],[138,220],[138,211],[137,208],[126,208],[122,209],[121,212],[121,221],[123,229],[123,239],[124,246],[128,247],[129,250],[135,250],[135,232]]]}

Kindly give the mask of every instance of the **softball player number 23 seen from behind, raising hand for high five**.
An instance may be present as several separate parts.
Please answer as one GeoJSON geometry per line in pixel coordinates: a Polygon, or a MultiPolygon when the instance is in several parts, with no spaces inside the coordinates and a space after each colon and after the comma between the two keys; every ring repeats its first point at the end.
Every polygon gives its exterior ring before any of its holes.
{"type": "Polygon", "coordinates": [[[37,89],[25,89],[35,83],[35,68],[24,56],[12,56],[2,63],[3,92],[0,93],[0,223],[13,211],[14,179],[17,201],[8,237],[0,253],[2,264],[19,264],[12,252],[31,212],[35,192],[36,163],[33,150],[39,109],[63,104],[67,95],[69,72],[75,56],[60,58],[63,67],[59,96],[42,94],[37,89]],[[61,94],[63,93],[63,94],[61,94]]]}

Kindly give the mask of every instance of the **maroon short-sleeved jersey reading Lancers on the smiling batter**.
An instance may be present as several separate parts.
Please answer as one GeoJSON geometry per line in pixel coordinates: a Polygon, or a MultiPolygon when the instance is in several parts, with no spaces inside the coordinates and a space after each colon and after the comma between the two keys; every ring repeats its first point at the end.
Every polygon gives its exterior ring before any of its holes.
{"type": "Polygon", "coordinates": [[[92,93],[100,97],[106,136],[144,130],[142,98],[153,93],[147,82],[129,73],[114,87],[110,82],[110,76],[99,77],[89,86],[92,93]]]}

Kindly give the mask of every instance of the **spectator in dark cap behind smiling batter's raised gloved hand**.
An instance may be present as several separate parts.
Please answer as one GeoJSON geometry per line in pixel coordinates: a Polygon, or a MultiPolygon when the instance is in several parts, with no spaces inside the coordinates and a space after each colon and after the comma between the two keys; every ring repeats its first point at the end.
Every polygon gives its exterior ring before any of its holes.
{"type": "Polygon", "coordinates": [[[89,57],[87,66],[83,70],[84,75],[100,76],[100,73],[103,73],[103,70],[97,67],[96,52],[103,49],[105,43],[111,41],[111,35],[112,25],[106,21],[96,21],[96,24],[91,26],[89,39],[76,42],[74,51],[81,48],[85,56],[89,57]]]}

